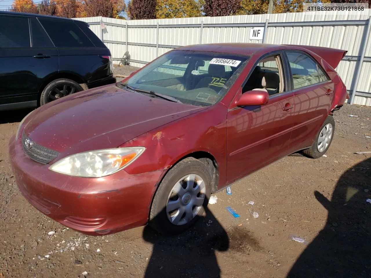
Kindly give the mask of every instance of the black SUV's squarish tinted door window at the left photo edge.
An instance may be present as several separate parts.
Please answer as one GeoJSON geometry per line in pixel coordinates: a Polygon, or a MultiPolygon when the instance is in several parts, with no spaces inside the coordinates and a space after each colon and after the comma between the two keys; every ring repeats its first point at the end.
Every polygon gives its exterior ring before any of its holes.
{"type": "Polygon", "coordinates": [[[30,47],[27,17],[0,16],[0,47],[30,47]]]}

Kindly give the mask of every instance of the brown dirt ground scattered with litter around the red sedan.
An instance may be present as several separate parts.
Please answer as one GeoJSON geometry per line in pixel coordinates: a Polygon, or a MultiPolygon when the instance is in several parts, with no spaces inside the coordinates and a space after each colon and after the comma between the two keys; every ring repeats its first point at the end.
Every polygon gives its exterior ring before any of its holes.
{"type": "Polygon", "coordinates": [[[206,216],[170,238],[149,227],[85,236],[33,208],[7,154],[28,112],[0,112],[0,277],[371,276],[371,155],[354,154],[371,150],[371,107],[335,112],[327,157],[293,155],[261,169],[232,195],[214,194],[206,216]]]}

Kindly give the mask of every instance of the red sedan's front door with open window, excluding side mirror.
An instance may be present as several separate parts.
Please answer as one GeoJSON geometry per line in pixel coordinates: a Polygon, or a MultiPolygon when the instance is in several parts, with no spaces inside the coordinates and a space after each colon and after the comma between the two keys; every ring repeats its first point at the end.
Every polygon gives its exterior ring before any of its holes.
{"type": "Polygon", "coordinates": [[[236,107],[232,102],[227,113],[227,183],[288,152],[294,97],[283,53],[264,55],[250,72],[242,93],[265,89],[269,101],[266,105],[245,107],[236,107]]]}

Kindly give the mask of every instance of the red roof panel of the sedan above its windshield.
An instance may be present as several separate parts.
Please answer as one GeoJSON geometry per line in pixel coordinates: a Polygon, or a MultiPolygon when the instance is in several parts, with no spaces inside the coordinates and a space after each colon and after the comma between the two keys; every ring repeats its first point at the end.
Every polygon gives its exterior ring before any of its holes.
{"type": "Polygon", "coordinates": [[[177,50],[188,51],[204,51],[204,52],[221,52],[230,54],[252,55],[255,52],[265,49],[267,52],[287,49],[287,46],[279,44],[266,43],[209,43],[209,44],[194,44],[190,46],[183,46],[177,50]]]}

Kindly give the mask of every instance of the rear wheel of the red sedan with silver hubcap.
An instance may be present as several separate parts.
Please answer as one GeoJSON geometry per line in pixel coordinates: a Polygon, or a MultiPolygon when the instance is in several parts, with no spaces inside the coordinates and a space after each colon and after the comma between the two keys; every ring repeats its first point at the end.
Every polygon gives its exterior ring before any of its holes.
{"type": "Polygon", "coordinates": [[[325,122],[319,129],[319,132],[314,140],[312,146],[308,149],[303,150],[304,155],[310,158],[320,158],[323,156],[329,146],[331,145],[332,139],[334,139],[334,132],[335,132],[335,121],[334,118],[330,115],[327,116],[325,122]],[[321,144],[321,140],[322,144],[321,144]]]}

